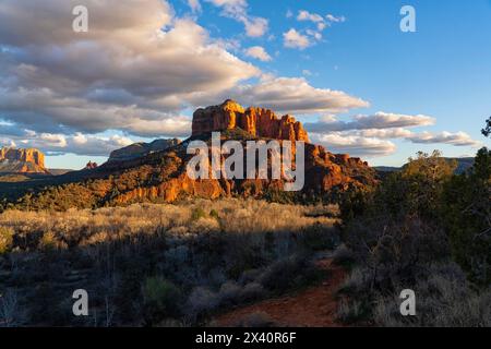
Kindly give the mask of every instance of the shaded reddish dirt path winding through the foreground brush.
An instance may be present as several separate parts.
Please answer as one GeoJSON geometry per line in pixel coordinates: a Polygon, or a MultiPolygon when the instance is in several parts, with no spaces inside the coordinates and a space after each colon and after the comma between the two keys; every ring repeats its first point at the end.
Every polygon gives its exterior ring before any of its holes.
{"type": "Polygon", "coordinates": [[[331,258],[316,262],[320,268],[330,270],[328,278],[320,286],[308,288],[295,296],[265,300],[233,310],[218,316],[219,326],[233,326],[254,313],[265,313],[275,325],[286,327],[337,327],[335,292],[346,277],[343,267],[333,265],[331,258]]]}

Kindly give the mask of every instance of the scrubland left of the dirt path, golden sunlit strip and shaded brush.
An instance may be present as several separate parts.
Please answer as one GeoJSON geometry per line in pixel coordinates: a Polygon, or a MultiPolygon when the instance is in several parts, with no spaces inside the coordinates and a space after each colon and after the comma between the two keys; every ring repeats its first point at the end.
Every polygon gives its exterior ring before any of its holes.
{"type": "Polygon", "coordinates": [[[0,325],[204,325],[314,281],[336,206],[187,201],[0,215],[0,325]],[[72,314],[86,289],[89,316],[72,314]]]}

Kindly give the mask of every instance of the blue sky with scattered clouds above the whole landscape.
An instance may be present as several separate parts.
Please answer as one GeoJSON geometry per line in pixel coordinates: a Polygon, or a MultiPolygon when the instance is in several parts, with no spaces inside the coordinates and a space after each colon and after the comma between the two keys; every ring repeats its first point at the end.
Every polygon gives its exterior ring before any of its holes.
{"type": "Polygon", "coordinates": [[[71,20],[57,12],[64,1],[47,0],[34,17],[24,12],[35,1],[5,1],[19,19],[0,21],[0,141],[41,148],[51,168],[101,163],[134,141],[185,136],[195,107],[226,97],[292,111],[312,141],[372,165],[398,166],[420,149],[471,156],[490,145],[479,132],[491,115],[489,0],[175,0],[164,8],[143,0],[151,10],[123,0],[121,13],[111,12],[115,0],[87,0],[79,2],[96,35],[89,26],[86,37],[61,26],[71,20]],[[399,29],[406,4],[416,10],[416,33],[399,29]],[[46,19],[59,21],[56,33],[37,27],[46,19]],[[168,35],[136,44],[148,23],[168,35]],[[194,58],[190,47],[200,48],[194,58]],[[248,55],[258,47],[266,57],[248,55]],[[115,61],[109,73],[108,57],[127,51],[131,68],[115,61]],[[105,76],[94,76],[98,69],[105,76]],[[278,97],[278,85],[289,93],[278,97]]]}

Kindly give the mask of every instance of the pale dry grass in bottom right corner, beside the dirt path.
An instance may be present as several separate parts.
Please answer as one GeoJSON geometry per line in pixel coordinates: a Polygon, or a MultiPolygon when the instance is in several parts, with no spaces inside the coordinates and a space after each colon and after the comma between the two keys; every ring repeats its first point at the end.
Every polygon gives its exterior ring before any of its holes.
{"type": "Polygon", "coordinates": [[[403,316],[399,292],[408,282],[394,281],[391,290],[372,290],[372,273],[356,268],[340,288],[337,315],[346,324],[383,327],[490,327],[491,291],[476,290],[455,263],[428,266],[412,285],[416,316],[403,316]]]}

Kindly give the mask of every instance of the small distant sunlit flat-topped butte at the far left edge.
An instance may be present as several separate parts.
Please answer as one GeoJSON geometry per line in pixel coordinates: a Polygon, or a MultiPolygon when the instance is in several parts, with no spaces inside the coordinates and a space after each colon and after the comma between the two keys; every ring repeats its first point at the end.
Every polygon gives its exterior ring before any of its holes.
{"type": "Polygon", "coordinates": [[[3,173],[48,173],[45,155],[38,149],[0,149],[0,172],[3,173]]]}

